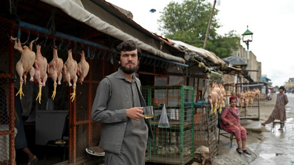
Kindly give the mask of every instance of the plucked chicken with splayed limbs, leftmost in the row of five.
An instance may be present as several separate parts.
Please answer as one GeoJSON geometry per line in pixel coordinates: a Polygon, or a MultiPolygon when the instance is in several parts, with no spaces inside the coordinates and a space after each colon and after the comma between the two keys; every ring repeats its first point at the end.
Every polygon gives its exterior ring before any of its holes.
{"type": "Polygon", "coordinates": [[[32,43],[34,42],[34,40],[30,43],[30,47],[24,46],[22,48],[20,45],[19,39],[17,40],[17,38],[13,38],[13,37],[10,37],[10,38],[11,38],[11,40],[15,41],[14,48],[21,53],[20,59],[16,63],[16,67],[15,67],[16,72],[20,78],[19,91],[16,93],[15,96],[17,96],[19,94],[20,99],[21,99],[21,95],[24,96],[24,93],[22,91],[22,86],[23,86],[23,83],[26,84],[26,78],[27,78],[28,72],[30,73],[30,76],[31,76],[30,81],[32,82],[34,80],[33,77],[35,75],[35,69],[33,67],[33,64],[36,59],[36,54],[35,54],[35,52],[32,51],[32,43]],[[23,76],[24,76],[24,79],[23,79],[23,76]]]}

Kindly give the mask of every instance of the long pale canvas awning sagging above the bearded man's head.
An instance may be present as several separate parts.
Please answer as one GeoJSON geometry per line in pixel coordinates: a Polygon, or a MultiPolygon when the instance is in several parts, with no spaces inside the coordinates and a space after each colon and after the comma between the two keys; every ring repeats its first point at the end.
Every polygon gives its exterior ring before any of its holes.
{"type": "Polygon", "coordinates": [[[103,6],[108,3],[104,0],[41,1],[60,8],[73,19],[83,22],[100,32],[113,36],[122,41],[134,40],[142,50],[146,50],[164,59],[185,63],[183,58],[171,55],[171,53],[164,46],[162,49],[160,49],[161,44],[159,41],[156,41],[155,39],[119,20],[117,17],[96,4],[101,3],[101,6],[103,6]]]}

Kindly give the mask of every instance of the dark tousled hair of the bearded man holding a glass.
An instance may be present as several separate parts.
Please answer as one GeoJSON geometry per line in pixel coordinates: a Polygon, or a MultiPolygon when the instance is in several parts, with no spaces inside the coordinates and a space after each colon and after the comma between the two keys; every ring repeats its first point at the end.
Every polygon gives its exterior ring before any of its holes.
{"type": "Polygon", "coordinates": [[[139,63],[140,59],[142,57],[141,49],[139,48],[137,43],[133,40],[123,41],[118,46],[116,46],[116,60],[117,61],[120,60],[120,52],[121,51],[132,51],[132,50],[136,50],[136,49],[138,50],[137,54],[138,54],[138,63],[139,63]]]}

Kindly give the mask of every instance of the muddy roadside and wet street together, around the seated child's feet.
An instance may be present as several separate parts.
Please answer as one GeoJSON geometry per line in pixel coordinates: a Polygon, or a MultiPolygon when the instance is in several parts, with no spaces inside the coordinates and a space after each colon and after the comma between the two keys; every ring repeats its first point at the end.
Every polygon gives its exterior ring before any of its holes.
{"type": "MultiPolygon", "coordinates": [[[[221,138],[219,155],[214,158],[213,165],[294,165],[294,94],[288,94],[289,103],[286,105],[286,131],[271,132],[271,125],[261,125],[272,110],[276,102],[276,94],[270,101],[260,101],[260,120],[243,120],[245,128],[250,132],[247,136],[247,148],[252,155],[238,154],[236,140],[230,148],[228,138],[221,138]]],[[[200,164],[200,163],[199,163],[200,164]]],[[[206,163],[207,164],[207,163],[206,163]]]]}

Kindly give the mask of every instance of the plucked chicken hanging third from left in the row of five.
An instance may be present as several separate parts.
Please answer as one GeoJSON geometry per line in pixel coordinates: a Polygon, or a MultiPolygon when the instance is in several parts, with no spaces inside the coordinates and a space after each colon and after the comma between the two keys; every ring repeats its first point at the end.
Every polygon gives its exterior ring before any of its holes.
{"type": "Polygon", "coordinates": [[[57,49],[53,49],[53,59],[49,63],[49,68],[47,69],[47,72],[49,73],[48,77],[51,77],[54,82],[54,91],[51,97],[53,98],[53,100],[56,95],[56,86],[57,86],[56,81],[58,80],[58,85],[61,84],[60,81],[62,78],[62,73],[61,73],[62,67],[63,67],[63,61],[62,59],[58,58],[57,49]]]}

